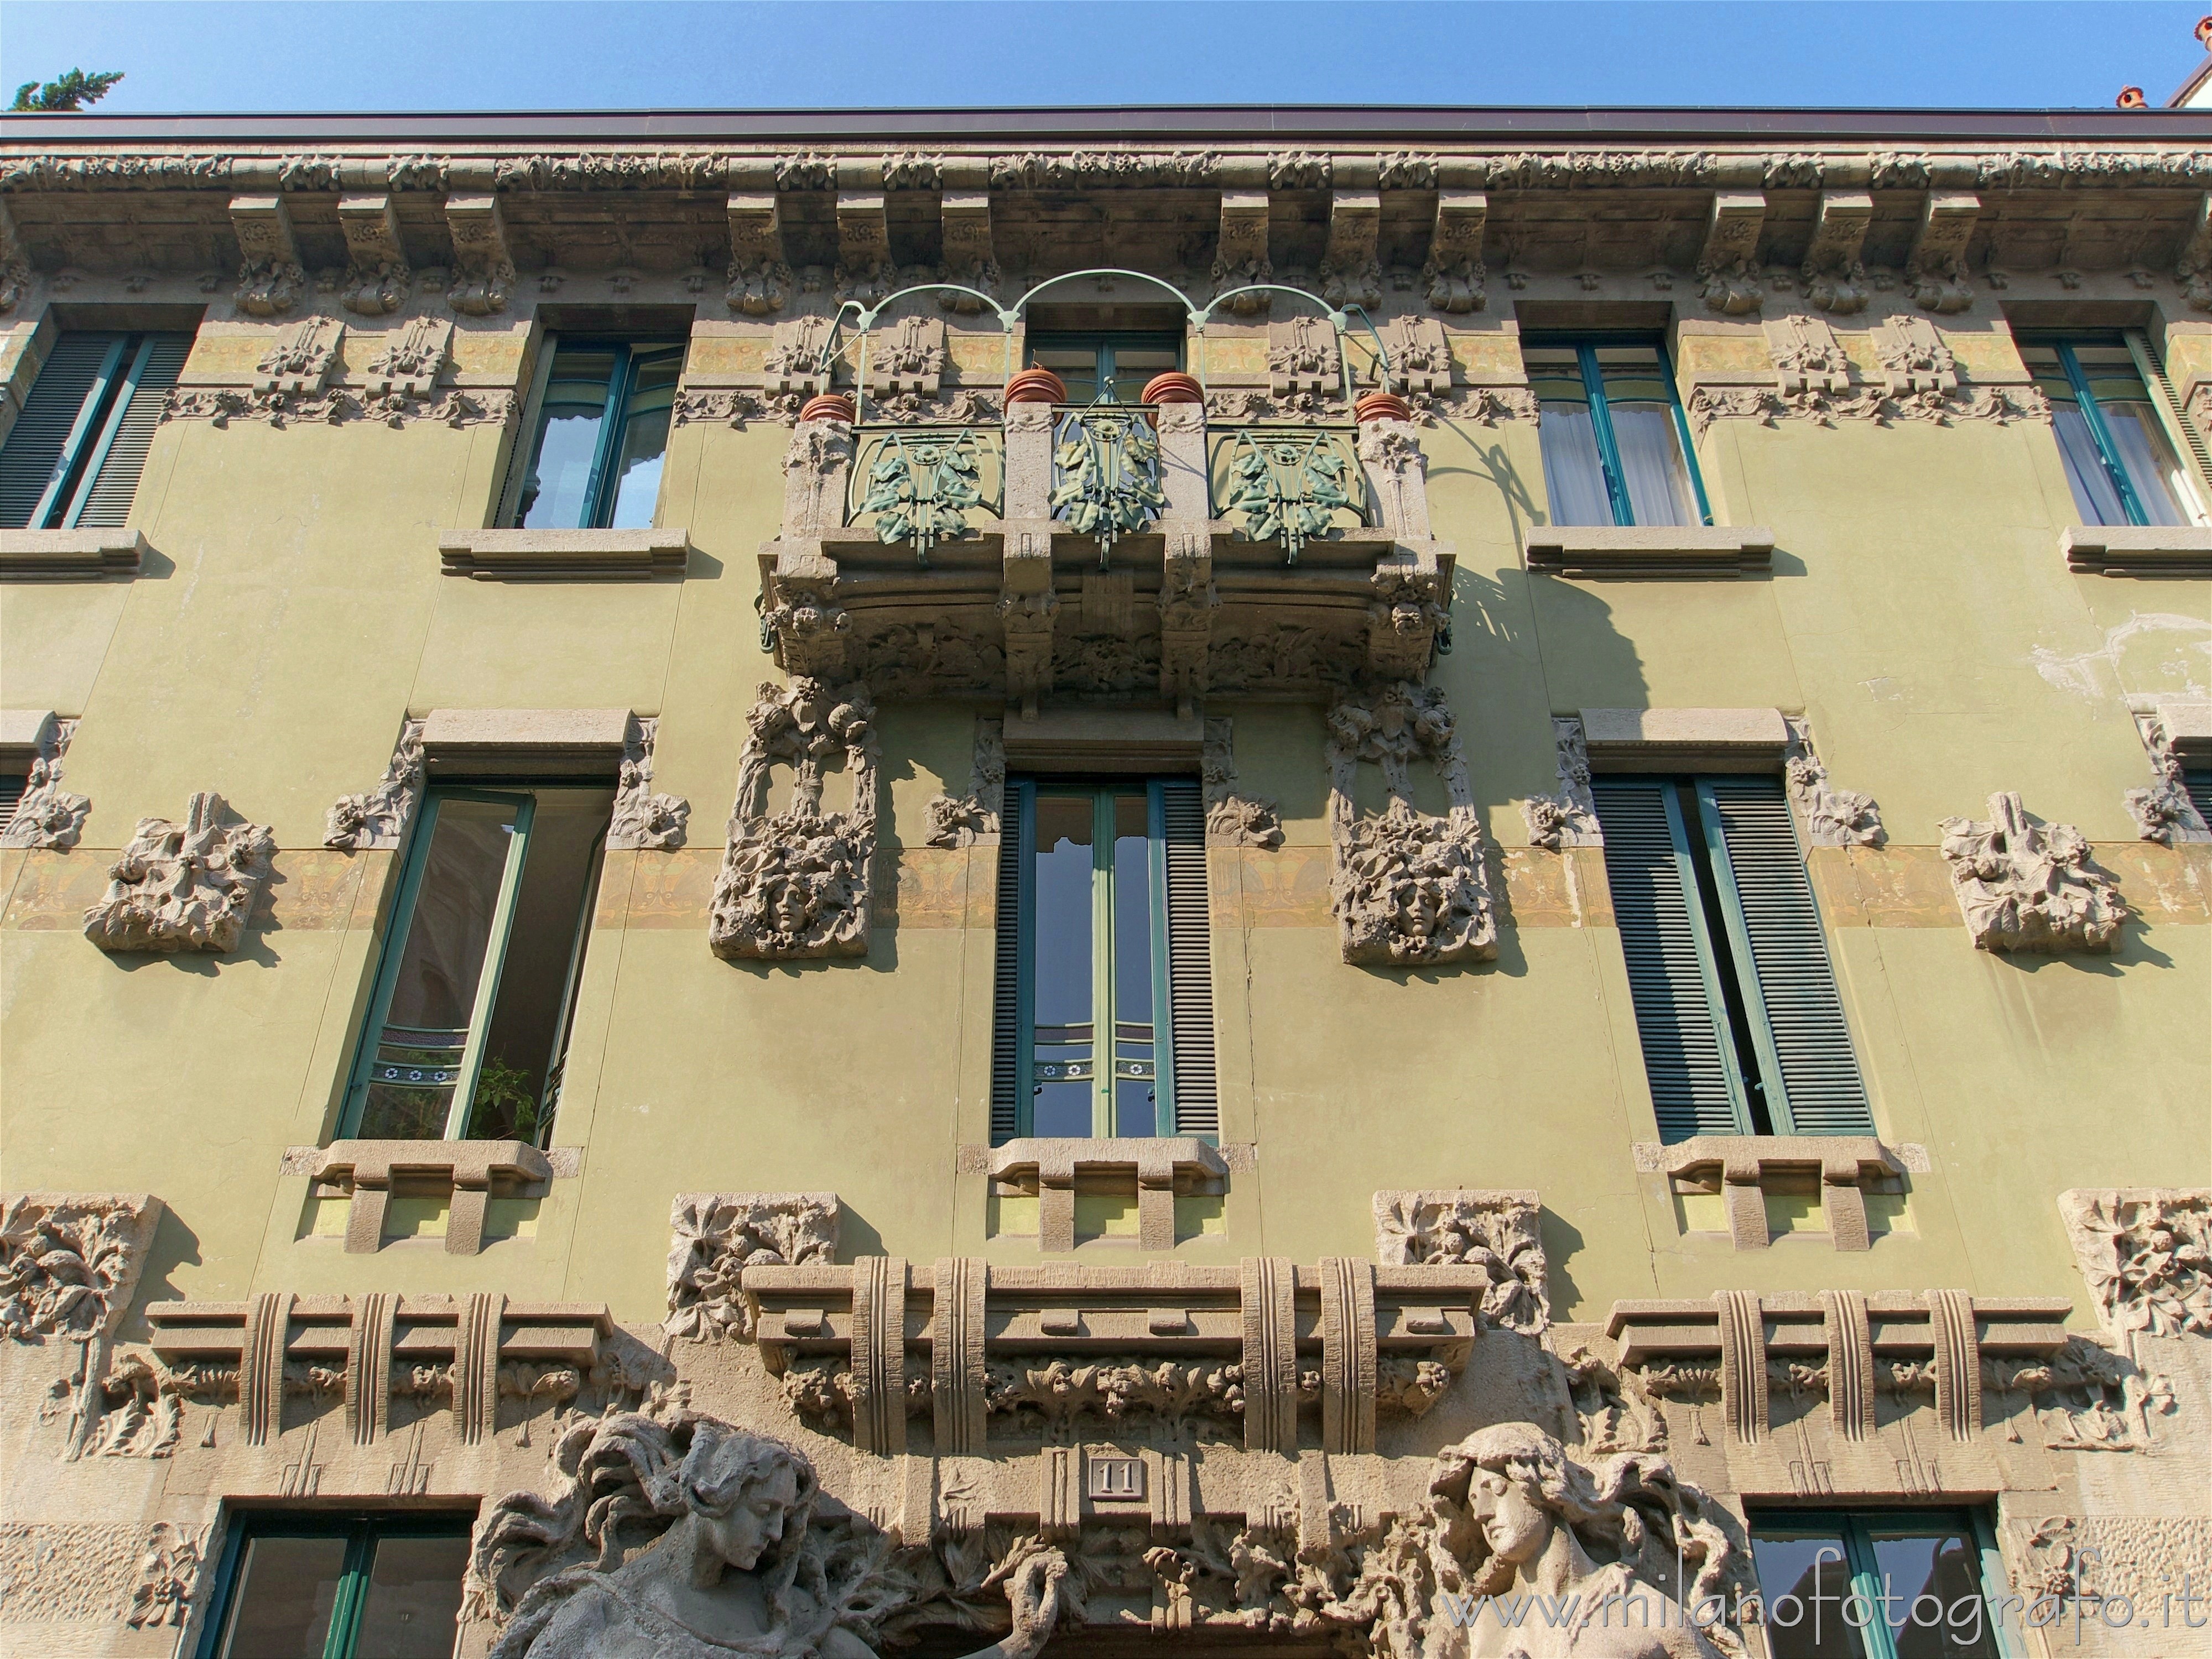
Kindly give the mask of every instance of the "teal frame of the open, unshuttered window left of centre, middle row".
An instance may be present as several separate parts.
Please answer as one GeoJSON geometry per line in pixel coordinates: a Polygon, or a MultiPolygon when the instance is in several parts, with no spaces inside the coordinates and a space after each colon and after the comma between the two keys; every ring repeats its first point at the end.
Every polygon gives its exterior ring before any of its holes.
{"type": "MultiPolygon", "coordinates": [[[[573,783],[573,781],[568,781],[573,783]]],[[[429,867],[429,849],[434,832],[438,827],[438,807],[445,801],[480,801],[491,805],[515,807],[515,827],[507,845],[507,865],[500,872],[500,896],[491,914],[491,931],[484,940],[484,967],[476,980],[476,1002],[469,1009],[469,1026],[462,1035],[460,1057],[456,1060],[453,1075],[453,1102],[447,1108],[445,1135],[442,1139],[460,1141],[469,1137],[469,1117],[476,1106],[476,1084],[484,1068],[484,1042],[491,1035],[491,1013],[500,1000],[500,978],[507,969],[507,947],[513,936],[515,925],[515,900],[522,891],[522,872],[529,863],[531,847],[531,823],[538,814],[535,787],[551,785],[453,785],[440,783],[431,785],[422,796],[422,807],[416,812],[416,823],[407,841],[407,867],[400,876],[400,891],[392,905],[392,925],[385,931],[385,949],[376,969],[376,989],[369,995],[369,1015],[361,1026],[361,1044],[354,1055],[354,1068],[345,1088],[345,1108],[338,1113],[338,1139],[349,1139],[361,1128],[363,1110],[367,1108],[369,1086],[376,1082],[374,1071],[378,1064],[378,1048],[385,1046],[387,1020],[392,1015],[392,998],[398,991],[400,967],[407,956],[407,936],[414,927],[416,898],[422,891],[422,874],[429,867]]],[[[562,1009],[555,1020],[555,1031],[566,1033],[568,1015],[575,1004],[577,969],[582,964],[584,947],[591,938],[591,911],[593,896],[597,891],[597,860],[604,858],[604,849],[593,854],[595,865],[584,883],[584,902],[577,911],[575,938],[568,951],[568,978],[562,991],[562,1009]]],[[[566,1037],[562,1035],[562,1042],[566,1037]]],[[[409,1046],[409,1044],[396,1044],[409,1046]]],[[[429,1048],[434,1044],[411,1044],[418,1048],[429,1048]]],[[[553,1130],[553,1113],[546,1106],[560,1099],[560,1079],[564,1071],[564,1055],[549,1057],[544,1088],[540,1093],[540,1119],[538,1119],[538,1141],[544,1144],[553,1130]]],[[[440,1084],[442,1086],[442,1084],[440,1084]]]]}

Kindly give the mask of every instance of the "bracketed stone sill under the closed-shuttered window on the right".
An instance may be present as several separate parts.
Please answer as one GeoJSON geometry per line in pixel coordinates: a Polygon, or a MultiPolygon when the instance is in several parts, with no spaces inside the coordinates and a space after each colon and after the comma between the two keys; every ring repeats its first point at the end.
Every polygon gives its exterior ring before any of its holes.
{"type": "Polygon", "coordinates": [[[1697,1135],[1672,1146],[1639,1141],[1635,1161],[1666,1175],[1681,1197],[1719,1197],[1736,1250],[1765,1250],[1770,1210],[1787,1212],[1803,1197],[1818,1201],[1836,1250],[1871,1250],[1867,1199],[1900,1192],[1907,1170],[1929,1166],[1927,1148],[1891,1150],[1871,1135],[1697,1135]]]}

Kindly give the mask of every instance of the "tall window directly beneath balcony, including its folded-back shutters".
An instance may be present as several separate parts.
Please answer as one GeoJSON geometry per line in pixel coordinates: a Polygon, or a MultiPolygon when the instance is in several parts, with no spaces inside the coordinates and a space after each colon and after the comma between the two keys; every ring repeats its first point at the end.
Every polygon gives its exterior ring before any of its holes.
{"type": "Polygon", "coordinates": [[[1217,1135],[1194,779],[1006,785],[991,1139],[1217,1135]]]}

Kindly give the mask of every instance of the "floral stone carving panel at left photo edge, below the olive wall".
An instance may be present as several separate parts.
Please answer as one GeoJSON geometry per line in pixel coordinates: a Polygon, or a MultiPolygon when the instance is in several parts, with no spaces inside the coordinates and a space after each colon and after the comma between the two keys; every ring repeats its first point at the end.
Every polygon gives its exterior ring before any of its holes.
{"type": "Polygon", "coordinates": [[[0,1336],[111,1336],[159,1219],[144,1192],[0,1197],[0,1336]]]}

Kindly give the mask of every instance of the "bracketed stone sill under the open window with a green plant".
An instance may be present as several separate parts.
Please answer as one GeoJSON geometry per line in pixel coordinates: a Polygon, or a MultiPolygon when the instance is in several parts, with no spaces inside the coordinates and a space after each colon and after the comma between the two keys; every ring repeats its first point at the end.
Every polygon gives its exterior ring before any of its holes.
{"type": "MultiPolygon", "coordinates": [[[[310,1179],[310,1203],[347,1203],[347,1254],[374,1254],[387,1243],[398,1199],[400,1210],[442,1201],[445,1252],[476,1256],[493,1203],[535,1206],[551,1181],[573,1179],[580,1168],[577,1148],[542,1152],[524,1141],[332,1141],[294,1146],[283,1161],[285,1175],[310,1179]]],[[[409,1228],[403,1237],[418,1234],[409,1228]]]]}

